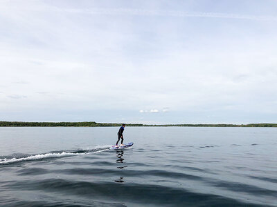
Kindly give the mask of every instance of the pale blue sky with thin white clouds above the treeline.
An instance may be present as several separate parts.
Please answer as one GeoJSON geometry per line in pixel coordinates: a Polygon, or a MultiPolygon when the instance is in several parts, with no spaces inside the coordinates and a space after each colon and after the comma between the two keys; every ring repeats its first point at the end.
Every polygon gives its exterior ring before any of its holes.
{"type": "Polygon", "coordinates": [[[277,1],[0,1],[0,121],[277,123],[277,1]]]}

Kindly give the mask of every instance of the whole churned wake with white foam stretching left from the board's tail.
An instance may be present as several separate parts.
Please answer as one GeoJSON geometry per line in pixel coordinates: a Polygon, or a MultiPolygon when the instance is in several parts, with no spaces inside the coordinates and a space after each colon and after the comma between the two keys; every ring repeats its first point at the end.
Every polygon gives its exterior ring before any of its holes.
{"type": "Polygon", "coordinates": [[[13,164],[21,161],[33,161],[37,159],[47,159],[47,158],[57,158],[57,157],[70,157],[70,156],[76,156],[76,155],[87,155],[87,154],[93,154],[98,152],[104,152],[106,150],[109,150],[110,146],[98,146],[94,149],[89,150],[61,150],[61,151],[55,151],[55,152],[48,152],[43,153],[39,155],[21,155],[21,156],[7,156],[7,157],[0,157],[0,165],[6,165],[6,164],[13,164]]]}

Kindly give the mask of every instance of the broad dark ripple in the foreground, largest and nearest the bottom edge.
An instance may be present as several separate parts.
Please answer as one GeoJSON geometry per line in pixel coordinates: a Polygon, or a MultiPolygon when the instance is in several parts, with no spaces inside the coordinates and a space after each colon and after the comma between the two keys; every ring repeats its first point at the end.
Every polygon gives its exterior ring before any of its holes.
{"type": "Polygon", "coordinates": [[[117,201],[125,199],[139,204],[159,204],[163,206],[260,206],[247,204],[236,199],[212,194],[190,192],[184,188],[171,188],[167,186],[150,184],[124,184],[87,181],[73,181],[66,179],[44,179],[40,181],[14,181],[6,188],[21,188],[21,190],[43,190],[51,192],[59,190],[63,195],[77,195],[84,198],[109,199],[117,201]],[[147,193],[143,193],[147,192],[147,193]],[[143,196],[142,196],[143,195],[143,196]],[[172,204],[174,201],[174,204],[172,204]]]}

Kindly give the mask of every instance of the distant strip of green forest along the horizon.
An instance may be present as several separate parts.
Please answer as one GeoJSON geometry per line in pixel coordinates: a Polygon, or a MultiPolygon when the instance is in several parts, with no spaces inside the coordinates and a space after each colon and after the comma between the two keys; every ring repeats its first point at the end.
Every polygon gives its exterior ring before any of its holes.
{"type": "MultiPolygon", "coordinates": [[[[1,126],[75,126],[75,127],[97,127],[97,126],[121,126],[114,123],[85,122],[24,122],[24,121],[0,121],[1,126]]],[[[126,124],[126,126],[194,126],[194,127],[277,127],[277,124],[126,124]]]]}

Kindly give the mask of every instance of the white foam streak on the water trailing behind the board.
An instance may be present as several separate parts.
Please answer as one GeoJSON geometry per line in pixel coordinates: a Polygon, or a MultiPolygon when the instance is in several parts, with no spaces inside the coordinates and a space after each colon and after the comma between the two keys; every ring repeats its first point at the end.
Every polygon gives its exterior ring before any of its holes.
{"type": "MultiPolygon", "coordinates": [[[[96,149],[99,149],[99,148],[96,148],[96,149]]],[[[20,162],[20,161],[32,161],[32,160],[36,160],[36,159],[46,159],[46,158],[55,158],[55,157],[87,155],[87,154],[94,154],[94,153],[98,153],[98,152],[104,152],[106,150],[109,150],[109,148],[105,148],[104,150],[97,150],[97,151],[93,151],[93,152],[82,152],[82,153],[60,152],[60,153],[46,153],[46,154],[40,154],[40,155],[30,155],[28,157],[20,157],[20,158],[16,158],[16,157],[3,158],[3,159],[0,159],[0,164],[12,164],[15,162],[20,162]]]]}

